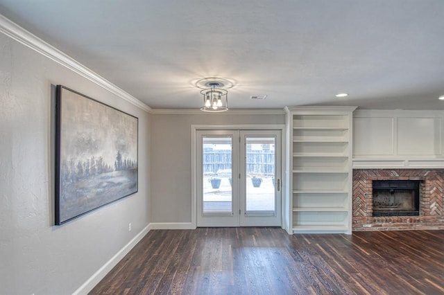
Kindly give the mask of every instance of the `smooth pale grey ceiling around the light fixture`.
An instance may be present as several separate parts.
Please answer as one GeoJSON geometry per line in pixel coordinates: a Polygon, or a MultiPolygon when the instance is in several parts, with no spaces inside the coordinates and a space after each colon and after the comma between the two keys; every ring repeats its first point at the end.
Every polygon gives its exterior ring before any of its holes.
{"type": "Polygon", "coordinates": [[[231,109],[444,109],[443,0],[0,0],[0,13],[154,109],[198,109],[210,77],[234,83],[231,109]]]}

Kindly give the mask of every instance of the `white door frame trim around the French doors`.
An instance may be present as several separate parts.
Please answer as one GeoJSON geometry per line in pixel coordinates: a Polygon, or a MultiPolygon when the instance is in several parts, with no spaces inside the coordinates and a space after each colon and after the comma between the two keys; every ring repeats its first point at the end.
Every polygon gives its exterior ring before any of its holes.
{"type": "MultiPolygon", "coordinates": [[[[196,132],[197,130],[217,130],[217,129],[237,129],[237,130],[280,130],[281,131],[281,154],[282,157],[285,154],[285,125],[284,124],[241,124],[241,125],[191,125],[191,228],[196,229],[197,227],[197,153],[196,153],[196,132]]],[[[284,161],[281,159],[281,188],[282,188],[282,202],[281,202],[281,227],[284,226],[283,217],[286,212],[286,207],[284,202],[284,194],[287,193],[283,190],[285,187],[284,181],[284,161]]]]}

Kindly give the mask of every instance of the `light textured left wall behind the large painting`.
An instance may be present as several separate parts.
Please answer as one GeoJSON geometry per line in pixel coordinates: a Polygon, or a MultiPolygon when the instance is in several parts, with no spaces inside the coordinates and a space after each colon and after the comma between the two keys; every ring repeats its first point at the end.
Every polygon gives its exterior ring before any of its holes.
{"type": "Polygon", "coordinates": [[[149,115],[2,34],[0,46],[0,294],[72,294],[150,221],[149,115]],[[139,192],[64,226],[53,225],[56,84],[139,118],[139,192]]]}

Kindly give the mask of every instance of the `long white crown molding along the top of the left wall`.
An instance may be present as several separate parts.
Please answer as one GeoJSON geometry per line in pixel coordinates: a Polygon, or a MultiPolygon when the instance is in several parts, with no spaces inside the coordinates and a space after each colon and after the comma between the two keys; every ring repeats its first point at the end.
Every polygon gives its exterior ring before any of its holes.
{"type": "Polygon", "coordinates": [[[15,41],[24,44],[28,48],[37,51],[37,53],[48,57],[50,60],[67,67],[75,73],[78,73],[78,75],[81,75],[83,78],[86,78],[87,80],[94,82],[111,93],[114,93],[115,95],[119,96],[119,98],[130,102],[144,111],[151,112],[151,107],[145,105],[144,102],[141,102],[134,96],[131,96],[126,91],[123,91],[110,81],[101,77],[101,75],[94,73],[94,71],[91,69],[88,69],[86,66],[83,66],[83,64],[80,64],[65,53],[62,53],[62,51],[58,50],[54,46],[44,42],[39,37],[28,32],[28,30],[18,26],[13,21],[10,21],[10,19],[3,17],[3,15],[0,15],[0,32],[12,39],[15,39],[15,41]]]}

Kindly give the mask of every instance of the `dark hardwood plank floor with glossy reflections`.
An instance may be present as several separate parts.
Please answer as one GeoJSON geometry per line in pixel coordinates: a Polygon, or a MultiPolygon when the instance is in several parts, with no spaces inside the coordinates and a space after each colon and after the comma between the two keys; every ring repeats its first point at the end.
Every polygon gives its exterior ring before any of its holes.
{"type": "Polygon", "coordinates": [[[444,294],[444,231],[150,231],[90,294],[444,294]]]}

